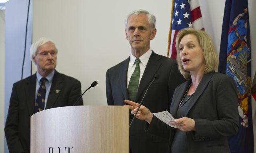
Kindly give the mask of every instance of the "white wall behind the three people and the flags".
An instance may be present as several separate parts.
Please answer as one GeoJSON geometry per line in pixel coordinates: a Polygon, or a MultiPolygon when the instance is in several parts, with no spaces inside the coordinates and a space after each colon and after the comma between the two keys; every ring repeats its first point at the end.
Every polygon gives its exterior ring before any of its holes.
{"type": "MultiPolygon", "coordinates": [[[[225,1],[199,2],[205,30],[218,51],[225,1]]],[[[248,6],[253,78],[256,71],[256,9],[253,6],[256,6],[256,1],[248,0],[248,6]]],[[[157,33],[151,48],[166,55],[171,0],[34,0],[33,41],[42,36],[52,39],[59,49],[57,71],[80,80],[83,91],[94,80],[98,81],[98,85],[83,96],[85,105],[106,105],[105,73],[129,56],[124,19],[136,9],[148,10],[156,16],[157,33]]],[[[35,67],[33,70],[36,71],[35,67]]],[[[256,102],[252,104],[256,128],[256,102]]],[[[256,130],[254,135],[256,137],[256,130]]]]}

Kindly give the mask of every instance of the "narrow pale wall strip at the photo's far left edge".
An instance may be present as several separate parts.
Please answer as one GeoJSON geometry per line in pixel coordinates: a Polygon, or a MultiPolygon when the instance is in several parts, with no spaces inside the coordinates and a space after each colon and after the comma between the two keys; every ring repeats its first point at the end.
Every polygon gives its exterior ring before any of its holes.
{"type": "MultiPolygon", "coordinates": [[[[4,72],[4,10],[0,10],[0,72],[4,72]]],[[[0,73],[0,153],[4,152],[4,73],[0,73]]]]}

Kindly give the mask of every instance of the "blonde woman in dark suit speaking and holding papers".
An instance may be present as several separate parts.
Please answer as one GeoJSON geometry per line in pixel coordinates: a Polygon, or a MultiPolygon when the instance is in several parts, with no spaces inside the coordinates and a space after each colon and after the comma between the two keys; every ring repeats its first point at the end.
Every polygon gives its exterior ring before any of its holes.
{"type": "MultiPolygon", "coordinates": [[[[238,131],[238,98],[234,79],[214,72],[218,57],[204,31],[182,29],[176,37],[179,71],[186,82],[174,91],[171,128],[141,106],[136,118],[146,131],[169,137],[168,153],[229,153],[227,136],[238,131]]],[[[138,104],[125,100],[132,114],[138,104]]],[[[144,102],[146,103],[146,102],[144,102]]]]}

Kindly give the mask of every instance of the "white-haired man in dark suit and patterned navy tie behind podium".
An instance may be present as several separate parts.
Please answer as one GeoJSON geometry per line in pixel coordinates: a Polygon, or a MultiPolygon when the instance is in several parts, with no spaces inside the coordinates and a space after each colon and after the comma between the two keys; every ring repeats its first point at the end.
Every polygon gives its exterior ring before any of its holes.
{"type": "MultiPolygon", "coordinates": [[[[81,95],[80,81],[55,70],[57,53],[52,41],[40,38],[30,48],[37,72],[13,84],[4,128],[10,153],[30,153],[30,116],[44,109],[72,106],[81,95]],[[46,78],[44,84],[41,78],[46,78]],[[45,89],[44,96],[40,88],[45,89]]],[[[78,105],[83,105],[82,99],[78,105]]]]}

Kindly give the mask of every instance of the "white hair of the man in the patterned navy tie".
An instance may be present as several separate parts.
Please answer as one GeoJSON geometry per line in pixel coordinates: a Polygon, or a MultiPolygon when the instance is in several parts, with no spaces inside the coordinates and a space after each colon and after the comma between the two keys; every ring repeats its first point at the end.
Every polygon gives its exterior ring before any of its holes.
{"type": "MultiPolygon", "coordinates": [[[[48,42],[53,43],[50,39],[41,37],[40,39],[38,39],[38,41],[36,41],[35,43],[33,43],[31,45],[31,47],[30,47],[30,59],[34,64],[35,64],[35,62],[34,62],[33,58],[36,57],[38,47],[40,47],[40,46],[42,46],[42,45],[44,45],[48,42]]],[[[56,53],[58,53],[58,49],[56,48],[56,45],[54,43],[53,43],[53,45],[55,46],[56,53]]]]}

